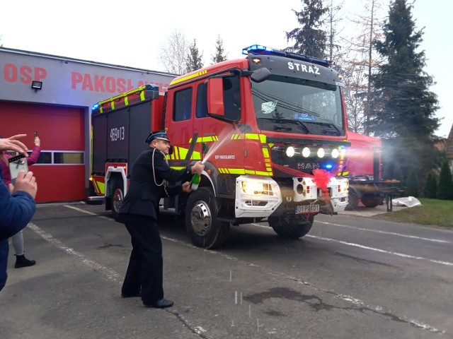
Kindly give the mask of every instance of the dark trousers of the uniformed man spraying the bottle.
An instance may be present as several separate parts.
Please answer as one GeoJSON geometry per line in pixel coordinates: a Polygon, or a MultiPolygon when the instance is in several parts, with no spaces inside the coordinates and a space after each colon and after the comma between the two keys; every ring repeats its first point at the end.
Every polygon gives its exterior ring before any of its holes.
{"type": "Polygon", "coordinates": [[[121,293],[133,295],[142,290],[142,301],[154,304],[164,298],[162,242],[153,218],[122,214],[132,240],[132,253],[121,293]]]}

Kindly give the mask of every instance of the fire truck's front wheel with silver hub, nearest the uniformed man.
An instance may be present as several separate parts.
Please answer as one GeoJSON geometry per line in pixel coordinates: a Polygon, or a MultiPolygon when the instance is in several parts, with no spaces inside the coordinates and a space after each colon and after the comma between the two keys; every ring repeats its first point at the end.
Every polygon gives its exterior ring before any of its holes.
{"type": "Polygon", "coordinates": [[[219,206],[209,187],[193,191],[185,206],[185,228],[195,246],[216,249],[226,242],[229,223],[217,220],[219,206]]]}

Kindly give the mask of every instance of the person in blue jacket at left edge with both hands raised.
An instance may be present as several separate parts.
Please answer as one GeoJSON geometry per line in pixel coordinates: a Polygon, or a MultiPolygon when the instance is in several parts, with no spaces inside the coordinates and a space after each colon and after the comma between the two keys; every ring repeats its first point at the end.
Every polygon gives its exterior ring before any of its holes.
{"type": "MultiPolygon", "coordinates": [[[[28,157],[27,147],[18,141],[25,134],[0,138],[0,163],[7,163],[5,150],[13,150],[28,157]]],[[[16,186],[6,186],[0,171],[0,290],[6,284],[8,266],[8,238],[25,227],[35,213],[35,196],[38,191],[33,172],[19,172],[16,186]]]]}

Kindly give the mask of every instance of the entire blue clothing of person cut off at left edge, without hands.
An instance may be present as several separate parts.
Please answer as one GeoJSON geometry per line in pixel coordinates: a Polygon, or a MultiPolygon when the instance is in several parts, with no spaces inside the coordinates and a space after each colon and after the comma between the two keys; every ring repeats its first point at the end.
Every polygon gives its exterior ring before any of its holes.
{"type": "Polygon", "coordinates": [[[33,197],[25,191],[17,191],[12,195],[9,193],[0,172],[0,290],[7,277],[8,238],[28,224],[35,208],[33,197]]]}

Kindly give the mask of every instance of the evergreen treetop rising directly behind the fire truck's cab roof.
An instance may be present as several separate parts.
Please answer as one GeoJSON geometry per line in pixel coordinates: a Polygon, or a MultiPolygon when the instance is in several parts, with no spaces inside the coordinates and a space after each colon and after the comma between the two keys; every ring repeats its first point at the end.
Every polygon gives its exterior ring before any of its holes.
{"type": "Polygon", "coordinates": [[[292,10],[301,25],[290,32],[286,32],[287,42],[295,40],[294,45],[287,47],[288,52],[305,54],[310,57],[326,57],[327,33],[322,30],[324,16],[328,8],[323,7],[322,0],[301,0],[302,11],[292,10]]]}

